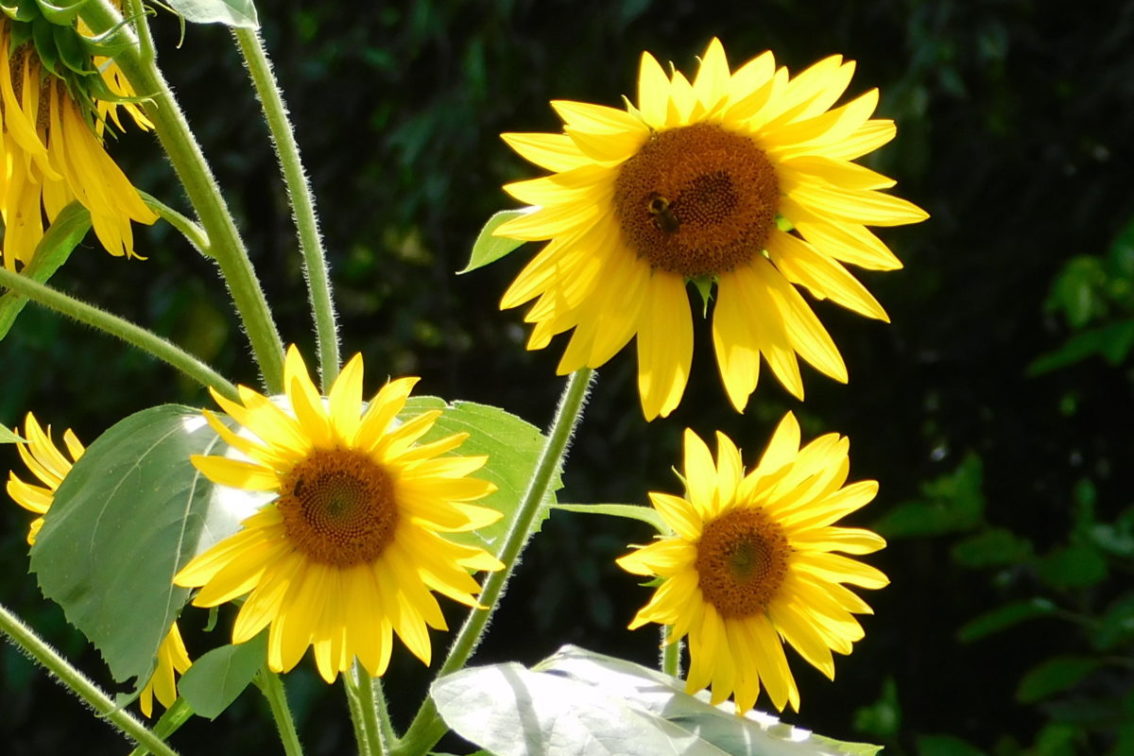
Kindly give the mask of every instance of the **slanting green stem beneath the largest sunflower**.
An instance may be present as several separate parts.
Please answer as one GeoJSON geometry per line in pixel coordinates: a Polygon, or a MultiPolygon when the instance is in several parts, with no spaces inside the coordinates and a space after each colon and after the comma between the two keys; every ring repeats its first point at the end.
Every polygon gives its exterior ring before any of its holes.
{"type": "MultiPolygon", "coordinates": [[[[548,431],[543,450],[540,452],[539,462],[536,462],[535,470],[532,474],[531,483],[528,483],[527,491],[524,492],[524,496],[521,499],[516,517],[511,521],[511,527],[505,537],[503,547],[500,550],[499,558],[503,562],[503,569],[489,574],[484,579],[480,601],[485,609],[474,609],[468,612],[465,623],[460,627],[457,638],[449,648],[449,655],[437,673],[438,678],[450,672],[456,672],[464,666],[473,651],[475,651],[476,644],[480,643],[481,635],[484,632],[492,612],[496,611],[508,578],[511,577],[511,572],[516,568],[519,553],[532,536],[535,524],[539,523],[539,515],[543,510],[543,501],[548,494],[548,490],[551,487],[551,482],[555,479],[556,473],[562,465],[567,452],[567,444],[575,432],[575,427],[578,425],[578,421],[583,416],[583,405],[593,375],[594,371],[584,367],[572,373],[570,379],[567,381],[567,385],[564,388],[562,396],[559,399],[556,417],[551,422],[551,428],[548,431]]],[[[422,703],[421,708],[417,710],[417,715],[414,716],[414,721],[411,723],[406,734],[403,736],[401,742],[393,749],[393,753],[399,756],[424,754],[441,739],[446,730],[445,722],[441,720],[440,714],[438,714],[433,699],[426,698],[422,703]]]]}

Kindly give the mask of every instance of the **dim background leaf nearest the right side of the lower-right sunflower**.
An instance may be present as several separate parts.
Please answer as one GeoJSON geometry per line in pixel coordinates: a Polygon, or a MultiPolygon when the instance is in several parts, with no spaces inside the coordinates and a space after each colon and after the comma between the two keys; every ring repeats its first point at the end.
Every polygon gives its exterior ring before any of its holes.
{"type": "Polygon", "coordinates": [[[906,501],[883,515],[873,528],[887,538],[963,533],[984,518],[981,458],[970,452],[948,475],[922,484],[921,499],[906,501]]]}

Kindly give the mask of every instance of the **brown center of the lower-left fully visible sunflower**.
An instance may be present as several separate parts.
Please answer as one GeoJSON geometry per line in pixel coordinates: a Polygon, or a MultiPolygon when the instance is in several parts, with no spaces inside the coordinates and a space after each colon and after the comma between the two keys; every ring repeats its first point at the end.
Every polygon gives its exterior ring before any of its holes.
{"type": "Polygon", "coordinates": [[[311,452],[284,477],[278,507],[296,549],[337,567],[378,559],[398,524],[390,475],[353,449],[311,452]]]}

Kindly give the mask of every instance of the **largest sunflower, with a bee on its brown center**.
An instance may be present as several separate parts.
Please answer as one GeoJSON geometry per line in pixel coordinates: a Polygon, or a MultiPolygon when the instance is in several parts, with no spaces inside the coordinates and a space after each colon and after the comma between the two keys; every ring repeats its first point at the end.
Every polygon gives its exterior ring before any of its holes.
{"type": "Polygon", "coordinates": [[[553,175],[505,186],[533,212],[497,236],[549,244],[500,306],[532,299],[528,349],[575,329],[560,373],[598,367],[637,337],[646,419],[677,407],[693,357],[687,283],[708,299],[729,399],[743,411],[761,356],[796,397],[796,355],[845,382],[839,351],[795,288],[888,320],[843,263],[902,263],[865,227],[924,220],[853,161],[895,135],[871,119],[878,91],[831,109],[854,63],[832,56],[795,77],[770,52],[730,71],[713,40],[691,83],[643,53],[637,107],[555,101],[564,134],[505,134],[553,175]]]}

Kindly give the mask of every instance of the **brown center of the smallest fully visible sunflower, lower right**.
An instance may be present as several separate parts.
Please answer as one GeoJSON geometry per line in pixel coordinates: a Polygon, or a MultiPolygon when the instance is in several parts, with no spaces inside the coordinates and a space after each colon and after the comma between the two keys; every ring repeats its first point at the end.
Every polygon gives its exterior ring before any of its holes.
{"type": "Polygon", "coordinates": [[[708,525],[697,543],[701,593],[725,619],[768,608],[787,574],[792,547],[761,509],[734,509],[708,525]]]}

